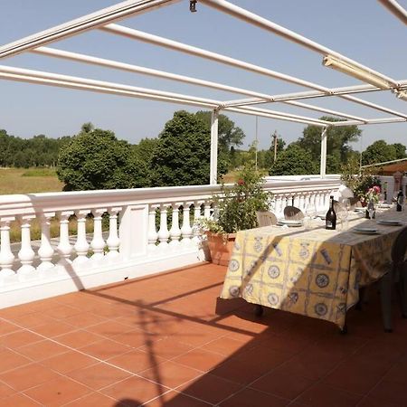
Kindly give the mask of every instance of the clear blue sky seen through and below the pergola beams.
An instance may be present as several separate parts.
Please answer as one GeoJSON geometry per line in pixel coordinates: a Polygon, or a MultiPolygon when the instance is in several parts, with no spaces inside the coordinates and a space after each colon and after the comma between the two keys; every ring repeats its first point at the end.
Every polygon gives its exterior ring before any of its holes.
{"type": "MultiPolygon", "coordinates": [[[[407,0],[399,0],[407,8],[407,0]]],[[[0,43],[12,42],[25,35],[42,31],[80,15],[118,3],[112,0],[3,0],[0,43]]],[[[374,0],[232,0],[256,14],[322,43],[337,52],[381,71],[395,80],[407,79],[405,25],[374,0]]],[[[289,43],[240,20],[197,5],[189,12],[183,0],[151,13],[129,18],[119,24],[189,43],[204,49],[252,62],[274,71],[315,81],[327,87],[360,84],[358,80],[321,65],[322,56],[289,43]]],[[[139,43],[115,35],[92,31],[49,46],[72,52],[134,63],[164,71],[214,80],[232,86],[280,94],[304,90],[289,83],[273,80],[180,52],[139,43]]],[[[52,71],[91,79],[110,80],[151,89],[162,89],[212,99],[240,99],[239,94],[208,90],[169,80],[109,70],[77,62],[65,62],[26,53],[1,62],[22,68],[52,71]]],[[[0,128],[10,134],[32,137],[46,134],[62,137],[78,132],[80,125],[91,121],[99,128],[109,128],[132,143],[142,137],[156,137],[175,110],[197,109],[182,105],[123,98],[113,95],[58,89],[28,83],[0,80],[0,128]]],[[[390,92],[374,92],[361,98],[407,112],[407,102],[390,92]]],[[[315,99],[309,103],[342,110],[365,118],[387,117],[385,113],[338,98],[315,99]]],[[[292,112],[318,118],[321,113],[294,109],[281,104],[263,105],[267,109],[292,112]]],[[[228,114],[246,133],[245,145],[255,137],[255,118],[228,114]]],[[[287,142],[301,136],[304,126],[268,118],[259,118],[260,147],[270,146],[270,134],[277,130],[287,142]]],[[[407,123],[363,126],[363,146],[376,139],[407,144],[407,123]]],[[[356,149],[360,144],[355,146],[356,149]]]]}

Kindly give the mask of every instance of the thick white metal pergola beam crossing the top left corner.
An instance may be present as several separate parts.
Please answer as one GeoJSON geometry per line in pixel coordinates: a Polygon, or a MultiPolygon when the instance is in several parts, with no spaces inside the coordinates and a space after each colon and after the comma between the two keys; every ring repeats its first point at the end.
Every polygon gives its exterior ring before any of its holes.
{"type": "Polygon", "coordinates": [[[103,8],[95,13],[83,15],[68,23],[56,25],[40,33],[34,33],[14,43],[7,43],[0,47],[0,58],[16,55],[31,50],[40,45],[84,33],[101,25],[122,20],[130,15],[145,13],[164,5],[171,5],[180,0],[127,0],[117,5],[103,8]]]}

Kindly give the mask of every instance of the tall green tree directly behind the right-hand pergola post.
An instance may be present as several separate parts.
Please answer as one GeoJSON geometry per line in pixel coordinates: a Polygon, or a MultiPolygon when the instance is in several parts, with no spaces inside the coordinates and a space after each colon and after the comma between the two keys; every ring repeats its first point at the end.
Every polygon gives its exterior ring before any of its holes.
{"type": "MultiPolygon", "coordinates": [[[[321,120],[341,121],[339,118],[324,116],[321,120]]],[[[312,159],[317,163],[321,156],[322,128],[309,125],[304,128],[303,137],[299,138],[298,146],[311,153],[312,159]]],[[[327,154],[337,156],[342,163],[349,157],[352,147],[349,143],[355,142],[362,134],[357,126],[329,127],[327,128],[327,154]]]]}

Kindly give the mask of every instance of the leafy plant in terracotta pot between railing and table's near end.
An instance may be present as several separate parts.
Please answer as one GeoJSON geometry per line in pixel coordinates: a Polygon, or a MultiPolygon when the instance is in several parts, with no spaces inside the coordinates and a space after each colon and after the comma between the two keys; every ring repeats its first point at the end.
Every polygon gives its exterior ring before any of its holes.
{"type": "Polygon", "coordinates": [[[213,215],[199,222],[213,263],[227,265],[236,232],[257,227],[256,212],[269,209],[271,194],[263,190],[262,184],[263,174],[248,164],[232,186],[222,183],[221,193],[213,197],[213,215]]]}

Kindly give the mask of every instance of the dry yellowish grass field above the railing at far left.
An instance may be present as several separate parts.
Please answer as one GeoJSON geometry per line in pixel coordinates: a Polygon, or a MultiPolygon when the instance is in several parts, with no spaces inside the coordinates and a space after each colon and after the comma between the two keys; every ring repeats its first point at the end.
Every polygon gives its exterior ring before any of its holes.
{"type": "Polygon", "coordinates": [[[60,192],[62,187],[51,168],[0,168],[0,195],[60,192]]]}

